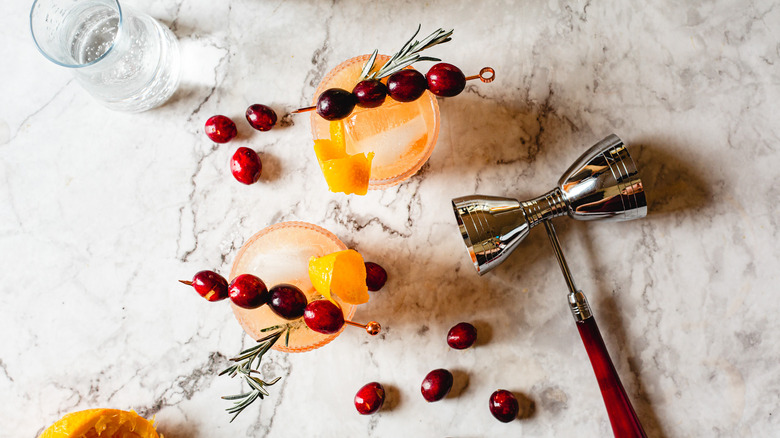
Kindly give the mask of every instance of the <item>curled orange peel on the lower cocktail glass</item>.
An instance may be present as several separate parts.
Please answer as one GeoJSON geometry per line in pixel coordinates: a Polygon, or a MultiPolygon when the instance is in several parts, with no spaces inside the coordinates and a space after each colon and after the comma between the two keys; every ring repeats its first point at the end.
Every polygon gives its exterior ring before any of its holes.
{"type": "Polygon", "coordinates": [[[349,304],[368,302],[366,264],[354,249],[310,258],[309,278],[317,292],[331,301],[335,294],[349,304]]]}

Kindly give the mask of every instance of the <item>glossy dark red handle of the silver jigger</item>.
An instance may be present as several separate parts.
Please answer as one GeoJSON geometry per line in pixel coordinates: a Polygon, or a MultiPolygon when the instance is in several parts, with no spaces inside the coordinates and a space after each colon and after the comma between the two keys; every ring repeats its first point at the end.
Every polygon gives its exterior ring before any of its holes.
{"type": "Polygon", "coordinates": [[[604,339],[596,325],[596,319],[591,316],[577,321],[577,330],[580,332],[590,364],[593,365],[593,371],[596,373],[601,396],[604,397],[604,405],[607,407],[609,422],[612,423],[612,432],[618,438],[646,438],[642,424],[639,423],[639,418],[631,406],[631,400],[628,399],[612,359],[609,357],[607,346],[604,345],[604,339]]]}

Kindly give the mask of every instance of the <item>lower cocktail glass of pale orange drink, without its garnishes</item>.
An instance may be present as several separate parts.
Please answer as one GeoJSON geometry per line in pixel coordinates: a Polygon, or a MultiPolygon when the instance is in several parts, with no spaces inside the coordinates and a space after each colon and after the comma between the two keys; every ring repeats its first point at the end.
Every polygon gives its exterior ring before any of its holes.
{"type": "MultiPolygon", "coordinates": [[[[338,237],[322,227],[306,222],[282,222],[261,230],[241,247],[233,261],[230,279],[241,274],[252,274],[261,278],[269,288],[281,283],[293,284],[301,289],[311,302],[321,299],[322,296],[317,293],[309,279],[309,258],[345,249],[347,246],[338,237]]],[[[352,319],[355,306],[340,301],[338,297],[335,299],[344,311],[344,318],[352,319]]],[[[273,346],[279,351],[310,351],[322,347],[341,333],[317,333],[306,326],[303,318],[288,321],[276,315],[268,306],[251,310],[232,303],[231,306],[238,323],[254,339],[268,334],[262,332],[264,328],[291,324],[289,344],[285,345],[282,337],[273,346]]]]}

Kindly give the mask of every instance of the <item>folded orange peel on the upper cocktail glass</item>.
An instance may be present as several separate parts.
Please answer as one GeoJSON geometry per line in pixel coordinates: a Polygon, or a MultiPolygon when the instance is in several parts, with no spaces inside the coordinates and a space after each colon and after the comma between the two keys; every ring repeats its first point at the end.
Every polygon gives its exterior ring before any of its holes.
{"type": "Polygon", "coordinates": [[[314,140],[314,152],[331,192],[365,195],[374,153],[349,155],[344,142],[344,124],[330,122],[330,140],[314,140]]]}

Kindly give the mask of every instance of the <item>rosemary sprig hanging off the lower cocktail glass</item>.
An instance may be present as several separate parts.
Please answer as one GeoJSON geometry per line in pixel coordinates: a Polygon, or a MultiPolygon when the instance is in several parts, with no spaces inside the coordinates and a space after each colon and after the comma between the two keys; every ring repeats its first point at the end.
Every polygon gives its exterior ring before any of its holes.
{"type": "Polygon", "coordinates": [[[281,377],[276,377],[275,379],[266,382],[260,377],[252,375],[260,374],[259,368],[260,362],[263,360],[263,355],[265,355],[265,353],[267,353],[268,350],[274,346],[276,341],[282,337],[282,334],[285,334],[285,345],[287,345],[290,341],[290,324],[266,327],[261,331],[268,332],[272,330],[275,331],[264,338],[258,339],[257,345],[247,348],[246,350],[238,353],[238,356],[231,358],[230,360],[236,363],[225,368],[219,373],[220,376],[227,374],[230,377],[235,377],[236,375],[240,374],[244,378],[244,381],[247,383],[247,385],[249,385],[251,388],[249,392],[245,392],[243,394],[226,395],[222,397],[225,400],[234,401],[233,406],[226,409],[229,414],[235,414],[233,415],[233,418],[230,419],[231,423],[236,419],[236,417],[238,417],[238,414],[240,414],[244,408],[251,405],[258,398],[262,400],[263,397],[268,395],[268,391],[265,389],[267,386],[271,386],[278,382],[279,379],[281,379],[281,377]],[[253,364],[255,364],[254,367],[252,366],[253,364]]]}

